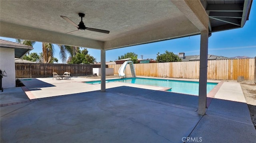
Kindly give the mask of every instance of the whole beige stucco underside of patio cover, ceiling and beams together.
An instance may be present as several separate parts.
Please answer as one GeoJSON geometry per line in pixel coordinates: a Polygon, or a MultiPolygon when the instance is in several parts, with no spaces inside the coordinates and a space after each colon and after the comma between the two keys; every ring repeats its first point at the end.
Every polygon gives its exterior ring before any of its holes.
{"type": "Polygon", "coordinates": [[[199,34],[208,29],[208,20],[199,0],[0,0],[1,36],[95,49],[199,34]],[[78,13],[85,14],[86,27],[110,33],[66,34],[77,28],[60,16],[79,24],[78,13]]]}

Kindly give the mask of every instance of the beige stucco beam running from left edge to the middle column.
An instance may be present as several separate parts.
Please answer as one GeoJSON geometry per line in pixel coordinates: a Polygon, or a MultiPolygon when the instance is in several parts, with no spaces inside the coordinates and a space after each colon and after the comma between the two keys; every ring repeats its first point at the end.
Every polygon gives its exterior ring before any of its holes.
{"type": "Polygon", "coordinates": [[[86,39],[70,34],[35,29],[23,25],[16,25],[7,22],[0,24],[0,35],[15,39],[26,39],[31,41],[44,41],[47,43],[70,45],[76,47],[87,47],[93,49],[103,49],[103,42],[93,39],[86,39]],[[10,28],[11,27],[11,28],[10,28]],[[61,37],[61,38],[60,38],[61,37]]]}

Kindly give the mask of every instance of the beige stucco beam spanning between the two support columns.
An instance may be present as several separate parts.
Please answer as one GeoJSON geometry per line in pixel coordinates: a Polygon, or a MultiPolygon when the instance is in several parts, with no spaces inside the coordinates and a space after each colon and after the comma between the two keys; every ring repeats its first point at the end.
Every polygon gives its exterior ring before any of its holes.
{"type": "Polygon", "coordinates": [[[176,21],[170,19],[166,22],[162,22],[162,24],[156,24],[154,29],[106,41],[104,42],[104,49],[110,50],[144,43],[152,43],[167,39],[196,35],[199,33],[200,31],[188,19],[186,19],[186,17],[176,21]],[[168,25],[163,25],[166,23],[168,23],[168,25]],[[176,27],[177,25],[178,27],[176,27]]]}

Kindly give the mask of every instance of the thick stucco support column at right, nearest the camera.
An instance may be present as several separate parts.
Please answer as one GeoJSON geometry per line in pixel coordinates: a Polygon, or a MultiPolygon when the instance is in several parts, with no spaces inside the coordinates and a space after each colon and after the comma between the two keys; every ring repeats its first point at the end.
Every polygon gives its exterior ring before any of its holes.
{"type": "Polygon", "coordinates": [[[201,31],[200,41],[200,71],[199,71],[199,99],[198,114],[204,115],[206,110],[206,84],[208,62],[208,30],[201,31]]]}

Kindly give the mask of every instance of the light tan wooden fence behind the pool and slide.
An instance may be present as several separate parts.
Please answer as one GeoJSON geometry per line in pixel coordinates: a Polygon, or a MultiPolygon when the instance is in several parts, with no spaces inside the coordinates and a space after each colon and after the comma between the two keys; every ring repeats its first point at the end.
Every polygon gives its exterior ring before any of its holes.
{"type": "MultiPolygon", "coordinates": [[[[172,62],[172,63],[147,63],[134,64],[136,75],[172,77],[172,78],[199,78],[200,61],[172,62]]],[[[114,68],[114,74],[118,74],[121,65],[108,65],[114,68]]],[[[244,76],[245,80],[254,80],[255,59],[229,59],[209,60],[207,78],[217,80],[237,80],[238,76],[244,76]]],[[[126,75],[131,76],[130,67],[125,70],[126,75]]]]}

